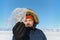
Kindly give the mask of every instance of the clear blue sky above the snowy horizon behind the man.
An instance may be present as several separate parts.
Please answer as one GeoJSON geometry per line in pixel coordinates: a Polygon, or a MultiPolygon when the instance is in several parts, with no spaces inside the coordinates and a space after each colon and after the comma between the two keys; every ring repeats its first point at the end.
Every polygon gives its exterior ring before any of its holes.
{"type": "Polygon", "coordinates": [[[0,30],[15,8],[30,8],[40,19],[37,28],[60,28],[60,0],[0,0],[0,30]]]}

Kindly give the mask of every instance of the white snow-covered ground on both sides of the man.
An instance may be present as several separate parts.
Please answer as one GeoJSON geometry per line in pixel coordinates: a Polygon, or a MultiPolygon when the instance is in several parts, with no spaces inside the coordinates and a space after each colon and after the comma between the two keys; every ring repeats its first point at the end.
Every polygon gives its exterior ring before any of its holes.
{"type": "MultiPolygon", "coordinates": [[[[47,40],[60,40],[60,31],[44,31],[47,40]]],[[[12,40],[12,31],[0,31],[0,40],[12,40]]]]}

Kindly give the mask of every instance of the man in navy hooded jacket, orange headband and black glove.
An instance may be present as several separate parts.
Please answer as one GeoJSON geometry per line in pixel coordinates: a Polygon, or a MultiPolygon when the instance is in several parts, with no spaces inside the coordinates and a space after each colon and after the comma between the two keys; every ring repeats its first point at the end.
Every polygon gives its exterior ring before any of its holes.
{"type": "Polygon", "coordinates": [[[34,11],[28,9],[23,22],[13,27],[13,40],[47,40],[45,34],[36,28],[39,19],[34,11]]]}

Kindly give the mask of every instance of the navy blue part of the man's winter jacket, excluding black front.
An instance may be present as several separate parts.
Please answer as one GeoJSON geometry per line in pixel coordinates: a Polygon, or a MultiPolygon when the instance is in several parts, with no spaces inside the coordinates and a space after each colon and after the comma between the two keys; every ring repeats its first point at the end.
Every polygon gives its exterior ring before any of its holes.
{"type": "MultiPolygon", "coordinates": [[[[45,34],[43,31],[36,29],[30,31],[30,40],[47,40],[45,34]]],[[[12,40],[15,40],[15,37],[13,36],[12,40]]]]}

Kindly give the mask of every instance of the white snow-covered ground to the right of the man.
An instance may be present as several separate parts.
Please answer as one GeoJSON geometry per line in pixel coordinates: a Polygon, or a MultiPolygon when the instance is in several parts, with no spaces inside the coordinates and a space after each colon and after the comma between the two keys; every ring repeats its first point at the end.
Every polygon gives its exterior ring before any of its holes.
{"type": "Polygon", "coordinates": [[[60,40],[60,31],[45,31],[47,40],[60,40]]]}

